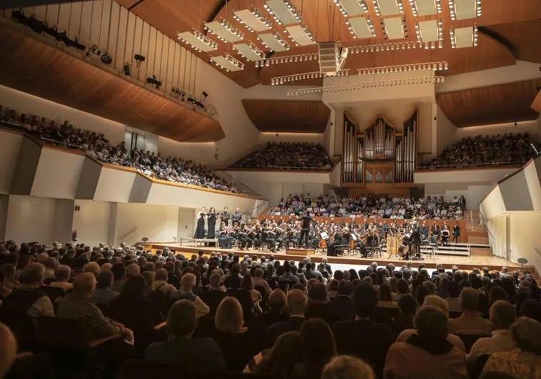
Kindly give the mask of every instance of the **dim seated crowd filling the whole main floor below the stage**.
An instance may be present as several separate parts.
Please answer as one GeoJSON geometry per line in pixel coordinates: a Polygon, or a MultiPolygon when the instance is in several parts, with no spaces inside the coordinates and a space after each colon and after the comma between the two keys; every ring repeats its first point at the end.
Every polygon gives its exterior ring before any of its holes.
{"type": "Polygon", "coordinates": [[[412,262],[342,271],[308,257],[236,261],[233,253],[14,241],[0,244],[0,263],[9,379],[209,378],[203,370],[231,379],[346,370],[366,379],[434,370],[538,378],[541,290],[527,271],[412,262]]]}

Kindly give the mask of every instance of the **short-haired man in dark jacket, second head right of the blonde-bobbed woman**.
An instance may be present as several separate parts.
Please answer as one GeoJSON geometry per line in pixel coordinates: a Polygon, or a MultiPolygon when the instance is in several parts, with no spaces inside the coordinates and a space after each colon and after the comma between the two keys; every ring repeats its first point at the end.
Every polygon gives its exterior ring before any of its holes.
{"type": "Polygon", "coordinates": [[[308,299],[302,290],[290,290],[285,298],[285,306],[289,312],[289,319],[276,323],[268,328],[267,347],[272,348],[278,337],[283,333],[298,332],[304,323],[304,313],[308,299]]]}

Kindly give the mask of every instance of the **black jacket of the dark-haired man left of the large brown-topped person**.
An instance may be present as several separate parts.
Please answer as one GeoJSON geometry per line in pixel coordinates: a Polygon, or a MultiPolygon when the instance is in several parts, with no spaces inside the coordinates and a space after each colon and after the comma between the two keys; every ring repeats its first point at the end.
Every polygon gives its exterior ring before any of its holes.
{"type": "Polygon", "coordinates": [[[338,354],[365,360],[378,378],[382,377],[387,352],[394,342],[387,325],[370,320],[340,321],[333,325],[333,333],[338,354]]]}

